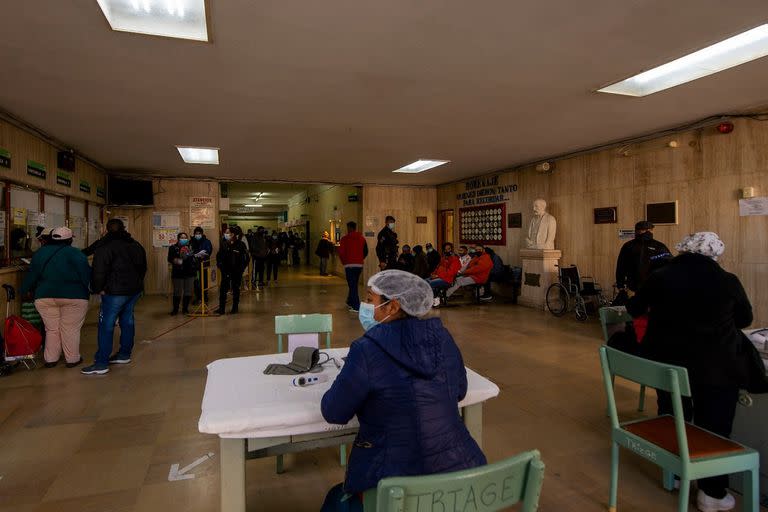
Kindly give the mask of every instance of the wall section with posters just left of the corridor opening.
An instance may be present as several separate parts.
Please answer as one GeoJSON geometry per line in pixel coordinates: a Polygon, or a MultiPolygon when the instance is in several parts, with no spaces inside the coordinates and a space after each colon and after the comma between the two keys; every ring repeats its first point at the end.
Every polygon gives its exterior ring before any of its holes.
{"type": "MultiPolygon", "coordinates": [[[[216,225],[219,223],[219,184],[215,181],[186,181],[155,179],[152,185],[155,205],[150,208],[113,208],[108,217],[128,217],[128,231],[147,251],[149,270],[144,281],[146,293],[171,293],[171,274],[168,266],[168,248],[152,247],[152,213],[178,211],[181,213],[181,228],[192,235],[194,226],[189,225],[189,200],[191,197],[213,197],[216,225]]],[[[219,228],[206,230],[206,236],[213,243],[214,257],[219,247],[219,228]]]]}

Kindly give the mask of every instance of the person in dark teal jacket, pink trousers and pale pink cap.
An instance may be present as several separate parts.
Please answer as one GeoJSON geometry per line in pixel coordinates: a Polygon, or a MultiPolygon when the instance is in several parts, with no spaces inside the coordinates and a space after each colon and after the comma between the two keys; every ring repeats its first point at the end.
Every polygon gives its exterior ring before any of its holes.
{"type": "Polygon", "coordinates": [[[51,231],[50,239],[32,257],[21,295],[33,293],[45,324],[45,367],[53,368],[62,351],[67,368],[83,362],[80,329],[88,312],[91,268],[80,249],[72,247],[72,230],[51,231]]]}

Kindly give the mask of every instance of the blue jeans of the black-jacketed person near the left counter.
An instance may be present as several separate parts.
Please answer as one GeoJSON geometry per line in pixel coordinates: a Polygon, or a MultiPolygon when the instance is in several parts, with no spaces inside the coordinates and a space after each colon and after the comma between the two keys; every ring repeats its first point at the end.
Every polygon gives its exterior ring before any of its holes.
{"type": "Polygon", "coordinates": [[[99,348],[96,351],[95,365],[106,367],[112,355],[112,338],[115,334],[115,322],[120,320],[120,350],[118,354],[131,357],[133,338],[136,334],[136,322],[133,307],[141,297],[136,295],[102,295],[99,308],[99,348]]]}

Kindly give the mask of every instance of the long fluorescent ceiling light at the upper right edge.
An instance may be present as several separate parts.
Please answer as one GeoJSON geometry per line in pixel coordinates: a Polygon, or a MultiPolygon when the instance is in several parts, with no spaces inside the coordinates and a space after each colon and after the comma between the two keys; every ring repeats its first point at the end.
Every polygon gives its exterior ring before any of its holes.
{"type": "Polygon", "coordinates": [[[598,89],[598,92],[647,96],[725,71],[768,55],[768,24],[747,30],[712,46],[598,89]]]}

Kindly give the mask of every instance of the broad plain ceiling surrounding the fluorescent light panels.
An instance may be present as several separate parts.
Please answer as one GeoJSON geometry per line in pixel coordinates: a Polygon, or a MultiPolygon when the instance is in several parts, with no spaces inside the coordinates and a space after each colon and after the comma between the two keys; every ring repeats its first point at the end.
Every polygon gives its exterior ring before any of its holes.
{"type": "Polygon", "coordinates": [[[765,0],[210,4],[212,44],[112,32],[96,0],[4,2],[0,107],[123,172],[435,184],[768,101],[768,59],[591,92],[766,23],[765,0]],[[417,158],[452,163],[391,173],[417,158]]]}

